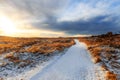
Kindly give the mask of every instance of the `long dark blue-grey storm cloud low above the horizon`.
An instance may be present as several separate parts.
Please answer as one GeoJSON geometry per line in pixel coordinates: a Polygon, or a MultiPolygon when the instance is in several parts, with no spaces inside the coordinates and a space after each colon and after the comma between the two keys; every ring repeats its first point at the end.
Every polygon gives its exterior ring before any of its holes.
{"type": "Polygon", "coordinates": [[[101,34],[108,31],[119,31],[116,25],[116,18],[110,21],[104,21],[109,16],[99,16],[89,21],[75,22],[56,22],[55,18],[50,18],[51,22],[46,22],[49,26],[41,27],[43,29],[51,29],[54,31],[65,31],[69,34],[101,34]]]}

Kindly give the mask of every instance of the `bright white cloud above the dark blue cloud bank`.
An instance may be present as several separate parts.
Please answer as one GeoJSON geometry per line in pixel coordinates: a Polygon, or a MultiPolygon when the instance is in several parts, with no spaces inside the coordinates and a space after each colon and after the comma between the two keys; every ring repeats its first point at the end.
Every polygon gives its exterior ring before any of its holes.
{"type": "MultiPolygon", "coordinates": [[[[72,7],[70,10],[66,10],[64,14],[58,18],[58,21],[78,21],[83,20],[87,21],[93,19],[97,16],[105,16],[105,15],[112,15],[118,14],[119,12],[110,11],[113,7],[111,5],[114,2],[111,1],[97,1],[91,0],[88,2],[80,2],[72,7]]],[[[115,6],[114,6],[115,7],[115,6]]],[[[115,7],[114,9],[120,6],[115,7]]],[[[120,9],[120,8],[119,8],[120,9]]]]}

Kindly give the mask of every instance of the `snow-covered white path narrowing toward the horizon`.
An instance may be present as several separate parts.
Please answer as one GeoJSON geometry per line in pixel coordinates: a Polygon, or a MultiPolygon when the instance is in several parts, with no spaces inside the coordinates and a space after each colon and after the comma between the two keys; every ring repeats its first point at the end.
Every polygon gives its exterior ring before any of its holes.
{"type": "Polygon", "coordinates": [[[68,51],[49,67],[45,67],[31,80],[104,80],[92,61],[84,43],[75,40],[68,51]]]}

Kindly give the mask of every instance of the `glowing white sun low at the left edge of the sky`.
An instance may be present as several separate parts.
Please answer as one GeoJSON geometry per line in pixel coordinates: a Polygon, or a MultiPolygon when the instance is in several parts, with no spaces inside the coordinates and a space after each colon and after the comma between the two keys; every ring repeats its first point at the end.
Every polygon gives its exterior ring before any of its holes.
{"type": "Polygon", "coordinates": [[[17,31],[15,23],[6,16],[0,16],[0,30],[5,35],[15,34],[17,31]]]}

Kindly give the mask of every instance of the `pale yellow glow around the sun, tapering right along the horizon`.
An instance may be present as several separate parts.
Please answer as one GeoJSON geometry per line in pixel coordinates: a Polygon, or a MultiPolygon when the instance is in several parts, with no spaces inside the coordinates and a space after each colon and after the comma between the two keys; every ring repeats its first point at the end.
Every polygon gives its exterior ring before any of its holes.
{"type": "Polygon", "coordinates": [[[19,19],[12,20],[5,15],[0,15],[0,33],[3,36],[14,37],[56,37],[65,36],[64,32],[55,32],[49,30],[41,30],[25,24],[19,19]]]}

